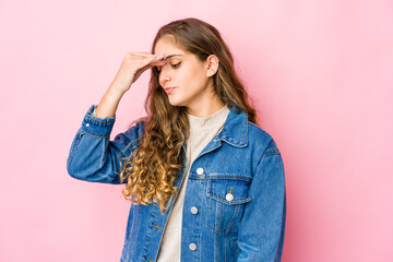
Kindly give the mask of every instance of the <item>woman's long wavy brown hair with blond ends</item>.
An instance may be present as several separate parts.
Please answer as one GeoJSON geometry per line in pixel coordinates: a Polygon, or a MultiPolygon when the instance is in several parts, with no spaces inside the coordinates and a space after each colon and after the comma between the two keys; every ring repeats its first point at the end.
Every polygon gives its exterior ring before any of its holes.
{"type": "MultiPolygon", "coordinates": [[[[152,53],[157,41],[168,35],[172,36],[174,44],[181,50],[193,53],[202,62],[210,55],[217,56],[218,70],[212,76],[215,93],[228,108],[237,106],[247,112],[251,122],[258,124],[257,112],[248,103],[243,84],[235,72],[234,58],[219,32],[194,17],[177,20],[159,28],[152,53]]],[[[144,104],[147,116],[130,124],[143,122],[143,134],[132,147],[131,155],[122,158],[126,160],[120,168],[120,180],[123,182],[127,179],[122,189],[124,199],[133,204],[147,205],[153,202],[159,205],[163,213],[178,190],[174,182],[183,167],[184,153],[181,148],[190,128],[187,108],[170,105],[158,76],[158,69],[153,67],[144,104]]]]}

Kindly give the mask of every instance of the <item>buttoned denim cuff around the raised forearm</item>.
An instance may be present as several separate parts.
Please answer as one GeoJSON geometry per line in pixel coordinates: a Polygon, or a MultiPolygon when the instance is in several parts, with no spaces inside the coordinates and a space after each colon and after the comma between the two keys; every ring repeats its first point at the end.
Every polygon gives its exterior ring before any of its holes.
{"type": "Polygon", "coordinates": [[[84,132],[98,138],[109,136],[116,120],[116,115],[111,118],[99,118],[93,112],[98,105],[92,105],[83,118],[82,129],[84,132]]]}

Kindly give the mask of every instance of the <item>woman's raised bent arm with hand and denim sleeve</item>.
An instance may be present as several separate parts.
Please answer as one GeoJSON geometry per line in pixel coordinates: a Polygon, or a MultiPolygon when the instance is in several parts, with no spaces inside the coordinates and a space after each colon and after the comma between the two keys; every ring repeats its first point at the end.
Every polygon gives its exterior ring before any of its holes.
{"type": "Polygon", "coordinates": [[[99,104],[88,109],[72,142],[67,160],[71,177],[91,182],[120,183],[120,158],[130,156],[133,146],[138,145],[138,140],[133,140],[142,135],[142,123],[138,122],[126,133],[109,141],[116,110],[124,93],[144,71],[166,63],[162,61],[164,53],[162,55],[126,53],[109,88],[99,104]]]}

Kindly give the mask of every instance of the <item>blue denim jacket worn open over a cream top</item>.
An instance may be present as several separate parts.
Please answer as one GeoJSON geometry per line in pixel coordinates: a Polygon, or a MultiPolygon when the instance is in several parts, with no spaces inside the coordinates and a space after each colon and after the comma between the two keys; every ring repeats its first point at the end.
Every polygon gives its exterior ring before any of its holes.
{"type": "MultiPolygon", "coordinates": [[[[138,122],[112,141],[115,118],[98,118],[92,105],[72,142],[71,177],[120,183],[120,158],[143,132],[138,122]]],[[[186,155],[186,144],[182,153],[186,155]]],[[[186,158],[187,160],[187,158],[186,158]]],[[[175,186],[179,187],[186,162],[175,186]]],[[[182,211],[181,261],[281,261],[286,190],[281,153],[272,136],[231,107],[223,130],[190,167],[182,211]]],[[[127,182],[127,181],[123,181],[127,182]]],[[[174,202],[174,201],[172,201],[174,202]]],[[[156,204],[131,204],[120,261],[156,261],[168,214],[156,204]]]]}

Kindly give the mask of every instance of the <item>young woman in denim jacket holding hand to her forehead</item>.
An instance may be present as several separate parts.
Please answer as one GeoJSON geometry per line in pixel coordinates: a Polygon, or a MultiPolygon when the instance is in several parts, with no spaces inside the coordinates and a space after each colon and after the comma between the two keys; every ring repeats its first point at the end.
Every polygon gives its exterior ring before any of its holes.
{"type": "Polygon", "coordinates": [[[152,53],[126,53],[86,112],[67,168],[76,179],[124,183],[121,261],[281,261],[281,153],[257,124],[228,46],[201,20],[163,26],[152,53]],[[121,97],[147,69],[147,116],[109,141],[121,97]]]}

